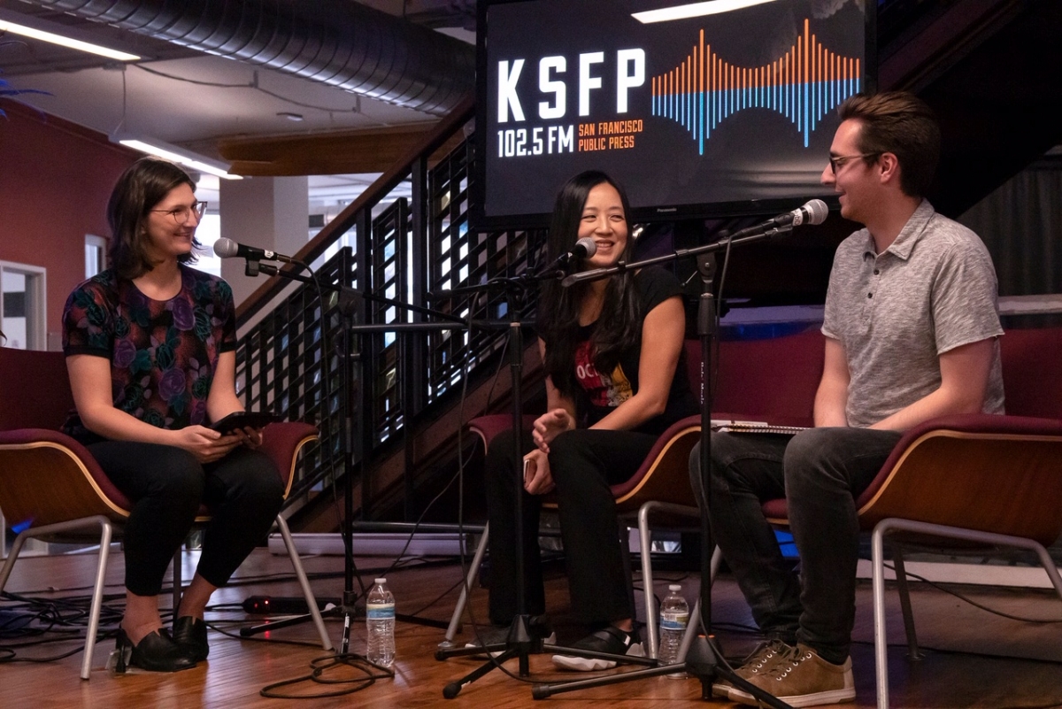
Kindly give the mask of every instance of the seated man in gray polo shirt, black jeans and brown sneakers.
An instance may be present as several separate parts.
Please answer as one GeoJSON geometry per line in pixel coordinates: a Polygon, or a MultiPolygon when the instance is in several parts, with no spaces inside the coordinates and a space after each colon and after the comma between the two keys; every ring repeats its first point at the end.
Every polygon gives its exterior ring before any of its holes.
{"type": "MultiPolygon", "coordinates": [[[[837,249],[826,294],[816,428],[712,435],[712,531],[767,641],[738,675],[798,707],[855,698],[849,657],[859,526],[855,499],[903,431],[936,416],[1003,413],[995,271],[984,245],[923,198],[940,155],[931,110],[909,93],[841,105],[824,185],[866,225],[837,249]],[[801,574],[760,509],[785,496],[801,574]]],[[[699,451],[690,481],[702,489],[699,451]]],[[[720,680],[713,692],[755,705],[720,680]]]]}

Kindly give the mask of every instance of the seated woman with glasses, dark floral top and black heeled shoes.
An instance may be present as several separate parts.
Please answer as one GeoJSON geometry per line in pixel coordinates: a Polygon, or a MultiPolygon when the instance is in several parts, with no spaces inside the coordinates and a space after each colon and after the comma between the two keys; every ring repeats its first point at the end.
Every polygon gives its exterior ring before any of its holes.
{"type": "Polygon", "coordinates": [[[275,466],[256,450],[261,430],[209,428],[243,405],[232,289],[188,265],[206,208],[194,189],[171,162],[143,158],[130,167],[107,205],[110,269],[75,288],[63,314],[75,405],[64,431],[134,502],[119,671],[127,662],[175,672],[206,659],[207,602],[266,535],[284,499],[275,466]],[[201,503],[212,519],[171,635],[157,596],[201,503]]]}

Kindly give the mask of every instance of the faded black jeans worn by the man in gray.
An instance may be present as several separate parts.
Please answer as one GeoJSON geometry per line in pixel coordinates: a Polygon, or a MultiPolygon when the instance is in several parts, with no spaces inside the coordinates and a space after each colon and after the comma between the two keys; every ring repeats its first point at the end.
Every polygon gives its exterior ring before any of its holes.
{"type": "Polygon", "coordinates": [[[849,656],[859,555],[855,499],[900,436],[854,428],[809,429],[791,437],[714,433],[707,502],[700,450],[693,448],[690,484],[765,635],[799,640],[830,662],[849,656]],[[760,508],[782,497],[800,552],[799,577],[760,508]]]}

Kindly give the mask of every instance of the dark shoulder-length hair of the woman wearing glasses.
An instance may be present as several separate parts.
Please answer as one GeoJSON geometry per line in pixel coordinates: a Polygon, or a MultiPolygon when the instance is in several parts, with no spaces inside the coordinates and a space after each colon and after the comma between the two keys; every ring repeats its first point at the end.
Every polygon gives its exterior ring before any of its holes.
{"type": "MultiPolygon", "coordinates": [[[[119,277],[132,280],[155,267],[148,256],[148,235],[144,223],[151,210],[166,198],[170,190],[195,183],[187,172],[169,160],[142,157],[121,174],[107,202],[107,223],[110,224],[110,247],[107,256],[119,277]]],[[[201,248],[198,240],[192,240],[201,248]]],[[[195,252],[182,254],[182,263],[195,261],[195,252]]]]}

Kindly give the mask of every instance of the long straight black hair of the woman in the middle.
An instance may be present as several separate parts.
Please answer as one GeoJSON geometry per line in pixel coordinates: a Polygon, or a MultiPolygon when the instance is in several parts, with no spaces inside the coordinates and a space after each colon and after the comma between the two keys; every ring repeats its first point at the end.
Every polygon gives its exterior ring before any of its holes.
{"type": "MultiPolygon", "coordinates": [[[[627,192],[605,173],[588,170],[565,183],[556,195],[547,244],[549,261],[566,254],[576,245],[586,197],[590,190],[601,184],[612,185],[619,192],[623,220],[627,222],[627,246],[620,259],[632,260],[634,235],[627,192]]],[[[589,293],[589,289],[586,282],[564,288],[556,280],[547,280],[543,281],[538,294],[537,329],[546,342],[546,374],[565,396],[571,396],[579,386],[575,359],[580,330],[579,305],[589,293]]],[[[623,271],[610,276],[605,284],[601,314],[590,335],[594,366],[598,371],[611,373],[619,363],[620,353],[636,345],[640,336],[641,309],[634,289],[634,276],[629,271],[623,271]]]]}

